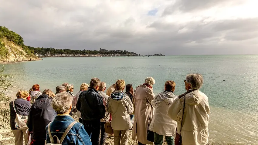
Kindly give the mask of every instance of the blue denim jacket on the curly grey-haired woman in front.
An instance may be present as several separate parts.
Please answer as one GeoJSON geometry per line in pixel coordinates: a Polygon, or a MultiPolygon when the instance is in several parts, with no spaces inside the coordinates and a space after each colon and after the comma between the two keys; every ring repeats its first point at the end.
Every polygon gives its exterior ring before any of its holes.
{"type": "MultiPolygon", "coordinates": [[[[59,140],[61,139],[66,128],[73,122],[71,116],[56,116],[54,121],[50,125],[50,131],[52,137],[56,135],[59,140]]],[[[46,126],[46,143],[50,143],[48,125],[46,126]]],[[[90,137],[85,131],[82,123],[75,123],[71,128],[62,144],[68,145],[91,145],[90,137]]]]}

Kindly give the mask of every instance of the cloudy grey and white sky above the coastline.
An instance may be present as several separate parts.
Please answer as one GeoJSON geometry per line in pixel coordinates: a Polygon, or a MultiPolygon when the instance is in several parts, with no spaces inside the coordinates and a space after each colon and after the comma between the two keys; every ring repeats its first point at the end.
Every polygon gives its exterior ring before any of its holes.
{"type": "Polygon", "coordinates": [[[258,0],[0,0],[27,46],[140,55],[258,54],[258,0]]]}

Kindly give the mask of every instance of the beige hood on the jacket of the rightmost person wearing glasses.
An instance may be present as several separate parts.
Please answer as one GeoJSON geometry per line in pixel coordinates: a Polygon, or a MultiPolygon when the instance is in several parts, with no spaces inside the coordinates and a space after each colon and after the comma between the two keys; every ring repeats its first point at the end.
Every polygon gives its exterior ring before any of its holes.
{"type": "MultiPolygon", "coordinates": [[[[188,90],[188,91],[191,91],[191,90],[188,90]]],[[[179,99],[182,102],[184,102],[184,100],[185,100],[185,103],[187,103],[189,105],[198,105],[202,102],[204,95],[205,95],[204,93],[202,93],[201,91],[199,91],[199,89],[197,89],[190,93],[185,94],[185,97],[184,97],[184,94],[180,95],[181,98],[179,96],[179,99]]]]}

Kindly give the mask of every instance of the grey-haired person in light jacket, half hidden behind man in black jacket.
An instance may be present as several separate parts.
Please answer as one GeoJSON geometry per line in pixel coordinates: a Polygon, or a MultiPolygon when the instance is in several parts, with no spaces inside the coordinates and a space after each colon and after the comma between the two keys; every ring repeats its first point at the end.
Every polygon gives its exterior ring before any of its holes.
{"type": "MultiPolygon", "coordinates": [[[[107,106],[107,99],[108,99],[109,96],[107,96],[107,94],[104,93],[105,89],[106,89],[106,83],[101,82],[98,92],[99,92],[100,96],[103,97],[103,103],[106,107],[107,106]]],[[[100,125],[101,125],[100,145],[105,145],[105,142],[106,142],[106,139],[107,139],[107,133],[105,132],[105,121],[106,120],[109,120],[107,108],[106,108],[105,117],[100,120],[100,125]]]]}

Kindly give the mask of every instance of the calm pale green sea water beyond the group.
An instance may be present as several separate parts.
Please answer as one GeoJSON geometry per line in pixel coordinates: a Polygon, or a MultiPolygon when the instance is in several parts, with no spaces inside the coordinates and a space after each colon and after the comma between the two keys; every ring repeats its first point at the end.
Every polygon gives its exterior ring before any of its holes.
{"type": "Polygon", "coordinates": [[[152,76],[154,93],[164,89],[167,80],[176,83],[175,94],[185,92],[188,73],[204,77],[201,89],[209,97],[210,142],[214,144],[258,143],[258,56],[151,56],[151,57],[77,57],[43,58],[42,61],[5,65],[14,74],[18,89],[37,83],[40,90],[51,89],[64,82],[73,83],[75,93],[80,84],[98,77],[107,87],[124,79],[134,88],[152,76]],[[226,81],[222,81],[226,79],[226,81]]]}

